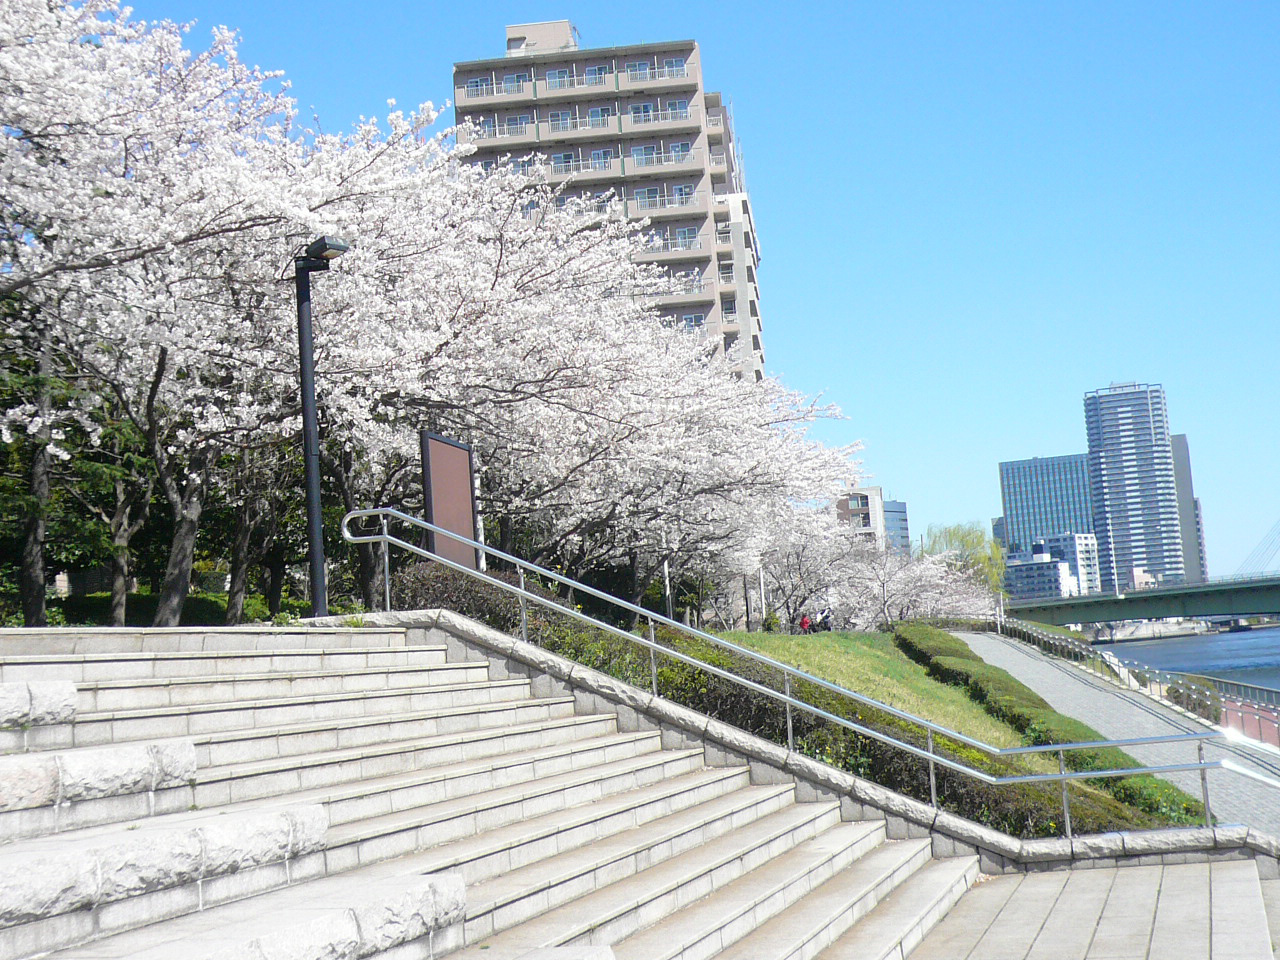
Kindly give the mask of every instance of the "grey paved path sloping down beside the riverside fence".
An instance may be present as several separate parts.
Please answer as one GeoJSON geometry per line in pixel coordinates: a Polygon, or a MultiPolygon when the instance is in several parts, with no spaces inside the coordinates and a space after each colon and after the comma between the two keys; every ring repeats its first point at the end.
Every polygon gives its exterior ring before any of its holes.
{"type": "MultiPolygon", "coordinates": [[[[1202,723],[1149,698],[1126,692],[1084,673],[1034,646],[995,634],[956,634],[987,663],[1001,667],[1043,696],[1059,713],[1076,717],[1105,737],[1160,736],[1204,730],[1202,723]]],[[[1187,744],[1149,744],[1126,748],[1128,754],[1148,764],[1193,763],[1196,749],[1187,744]]],[[[1247,741],[1211,741],[1204,759],[1230,758],[1280,780],[1280,756],[1274,750],[1247,741]]],[[[1171,773],[1170,781],[1194,797],[1201,795],[1199,773],[1171,773]]],[[[1280,790],[1272,790],[1230,771],[1210,771],[1208,799],[1219,823],[1247,823],[1280,837],[1280,790]]]]}

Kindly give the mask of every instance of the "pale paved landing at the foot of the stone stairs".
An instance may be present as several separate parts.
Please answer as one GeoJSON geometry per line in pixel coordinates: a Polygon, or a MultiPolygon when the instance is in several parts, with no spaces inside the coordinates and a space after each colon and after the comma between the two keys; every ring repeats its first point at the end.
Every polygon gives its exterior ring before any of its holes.
{"type": "Polygon", "coordinates": [[[1272,960],[1251,860],[982,881],[911,960],[1272,960]]]}

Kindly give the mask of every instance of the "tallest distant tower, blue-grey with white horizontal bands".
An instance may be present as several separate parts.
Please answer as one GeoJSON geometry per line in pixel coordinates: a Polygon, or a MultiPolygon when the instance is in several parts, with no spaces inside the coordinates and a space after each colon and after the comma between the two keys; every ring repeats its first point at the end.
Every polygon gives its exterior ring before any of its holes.
{"type": "Polygon", "coordinates": [[[1187,576],[1169,410],[1160,384],[1112,384],[1084,394],[1089,497],[1102,589],[1187,576]]]}

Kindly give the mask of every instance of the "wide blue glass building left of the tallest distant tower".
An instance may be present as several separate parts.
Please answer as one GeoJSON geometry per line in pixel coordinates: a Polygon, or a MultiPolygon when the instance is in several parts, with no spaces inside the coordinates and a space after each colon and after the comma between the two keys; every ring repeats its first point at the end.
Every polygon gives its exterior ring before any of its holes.
{"type": "Polygon", "coordinates": [[[1088,462],[1083,453],[1010,460],[1000,465],[1001,541],[1030,550],[1059,534],[1093,532],[1088,462]]]}

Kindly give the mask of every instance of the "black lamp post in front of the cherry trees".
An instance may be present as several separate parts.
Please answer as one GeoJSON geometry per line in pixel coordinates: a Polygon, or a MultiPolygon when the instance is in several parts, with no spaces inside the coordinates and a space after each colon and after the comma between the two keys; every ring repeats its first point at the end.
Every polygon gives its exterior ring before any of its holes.
{"type": "Polygon", "coordinates": [[[324,527],[320,521],[320,425],[316,421],[316,364],[311,337],[311,273],[328,270],[329,261],[349,250],[333,237],[307,244],[293,257],[298,289],[298,366],[302,374],[302,460],[307,477],[307,563],[311,568],[311,616],[329,616],[329,591],[324,581],[324,527]]]}

